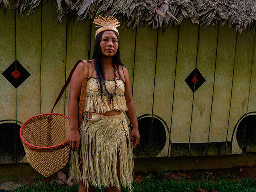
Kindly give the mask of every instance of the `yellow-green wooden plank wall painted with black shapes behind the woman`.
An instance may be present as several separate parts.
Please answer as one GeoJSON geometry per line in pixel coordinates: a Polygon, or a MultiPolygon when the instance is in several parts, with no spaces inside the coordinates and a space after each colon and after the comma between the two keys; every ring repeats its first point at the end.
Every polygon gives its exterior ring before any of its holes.
{"type": "MultiPolygon", "coordinates": [[[[91,58],[95,31],[90,20],[58,23],[54,2],[31,18],[0,10],[0,164],[26,162],[21,124],[50,112],[74,63],[91,58]],[[30,74],[18,88],[3,75],[15,60],[30,74]]],[[[255,28],[240,34],[184,20],[163,34],[147,26],[119,32],[141,134],[134,156],[256,151],[255,28]]],[[[67,114],[68,92],[54,112],[67,114]]]]}

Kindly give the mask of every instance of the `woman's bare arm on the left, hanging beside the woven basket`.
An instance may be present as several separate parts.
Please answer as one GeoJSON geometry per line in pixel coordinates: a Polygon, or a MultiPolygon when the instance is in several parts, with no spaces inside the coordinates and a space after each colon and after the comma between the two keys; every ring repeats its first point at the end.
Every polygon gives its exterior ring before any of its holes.
{"type": "Polygon", "coordinates": [[[72,149],[72,151],[77,151],[80,144],[80,134],[78,130],[78,106],[83,78],[84,62],[81,61],[72,74],[68,97],[68,121],[70,126],[68,146],[72,149]]]}

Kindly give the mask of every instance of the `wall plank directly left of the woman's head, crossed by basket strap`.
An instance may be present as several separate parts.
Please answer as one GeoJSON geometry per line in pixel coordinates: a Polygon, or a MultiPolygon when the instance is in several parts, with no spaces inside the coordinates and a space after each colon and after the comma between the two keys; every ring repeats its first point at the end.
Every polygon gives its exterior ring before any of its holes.
{"type": "MultiPolygon", "coordinates": [[[[66,78],[74,64],[79,59],[89,60],[90,51],[90,20],[85,22],[68,21],[67,26],[67,52],[66,52],[66,78]]],[[[65,92],[65,115],[68,115],[68,96],[70,85],[65,92]]]]}

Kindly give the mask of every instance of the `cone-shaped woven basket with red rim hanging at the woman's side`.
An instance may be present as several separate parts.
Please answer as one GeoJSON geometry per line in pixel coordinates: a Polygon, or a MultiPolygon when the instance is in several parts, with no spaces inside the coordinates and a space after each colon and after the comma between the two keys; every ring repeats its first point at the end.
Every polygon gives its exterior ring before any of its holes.
{"type": "Polygon", "coordinates": [[[66,166],[68,134],[68,118],[62,114],[40,114],[24,122],[20,138],[30,165],[46,177],[66,166]]]}

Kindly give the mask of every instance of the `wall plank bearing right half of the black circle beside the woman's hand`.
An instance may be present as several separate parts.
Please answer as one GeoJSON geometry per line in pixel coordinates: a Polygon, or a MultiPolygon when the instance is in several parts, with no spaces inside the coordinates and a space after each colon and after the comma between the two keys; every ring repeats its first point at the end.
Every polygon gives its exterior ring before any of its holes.
{"type": "Polygon", "coordinates": [[[154,116],[158,124],[152,127],[151,142],[155,145],[150,145],[150,156],[168,156],[177,46],[178,26],[166,29],[164,34],[159,32],[153,106],[153,114],[159,118],[154,116]]]}

